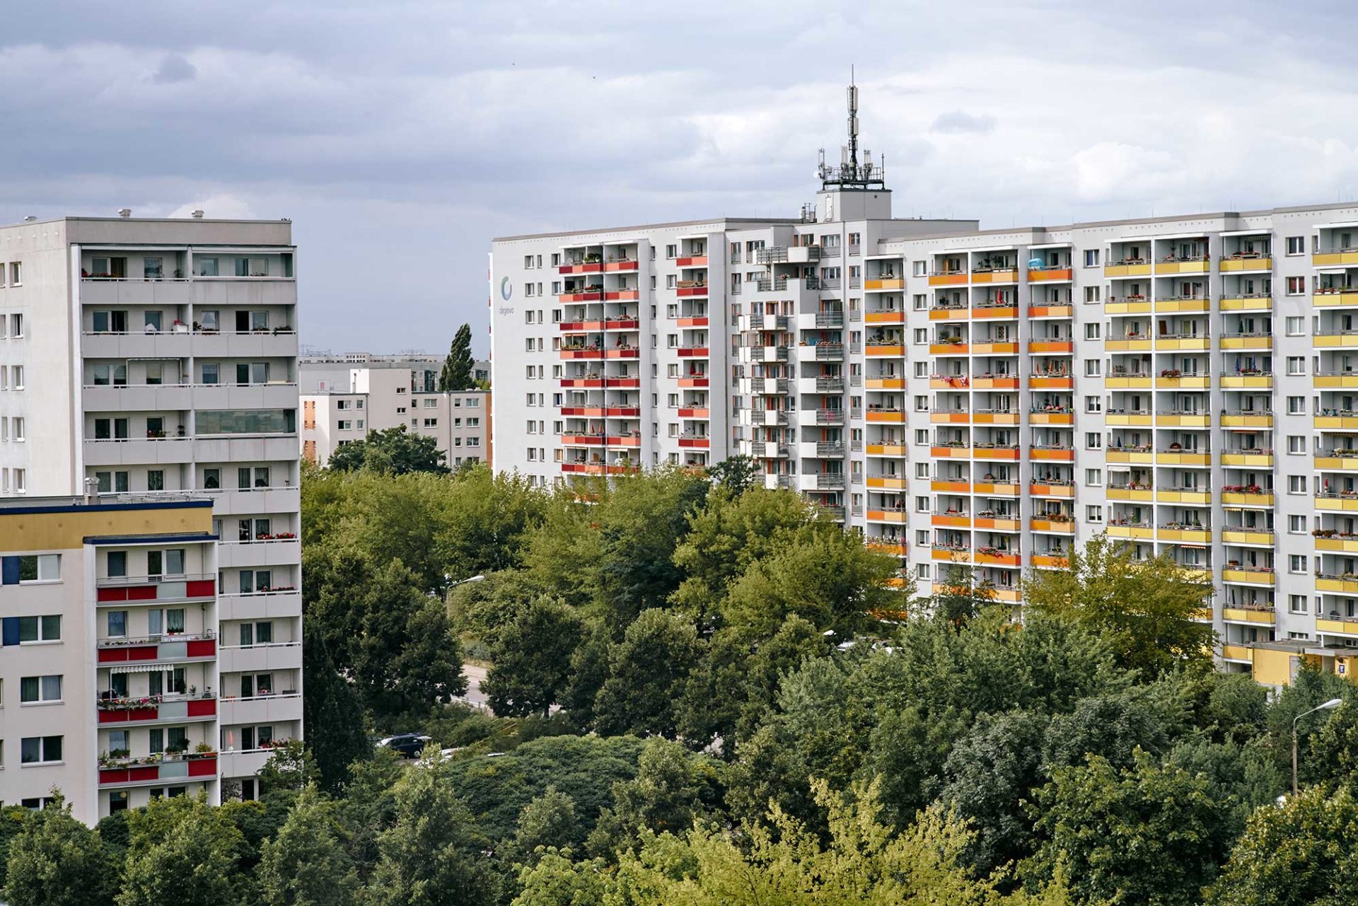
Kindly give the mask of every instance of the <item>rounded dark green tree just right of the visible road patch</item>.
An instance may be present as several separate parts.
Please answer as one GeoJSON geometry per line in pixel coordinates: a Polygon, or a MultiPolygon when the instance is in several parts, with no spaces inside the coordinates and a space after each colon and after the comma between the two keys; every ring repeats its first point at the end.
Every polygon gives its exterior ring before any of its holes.
{"type": "Polygon", "coordinates": [[[482,690],[500,716],[546,717],[570,682],[570,656],[584,636],[565,604],[536,599],[520,607],[492,648],[482,690]]]}

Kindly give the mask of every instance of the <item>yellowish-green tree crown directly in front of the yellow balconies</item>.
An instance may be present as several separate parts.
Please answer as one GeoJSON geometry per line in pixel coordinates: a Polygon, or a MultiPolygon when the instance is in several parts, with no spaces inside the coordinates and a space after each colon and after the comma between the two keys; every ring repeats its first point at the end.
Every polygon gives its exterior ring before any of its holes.
{"type": "Polygon", "coordinates": [[[1066,569],[1033,569],[1024,577],[1029,609],[1104,633],[1119,663],[1148,676],[1211,659],[1215,633],[1196,619],[1211,584],[1169,551],[1137,560],[1130,545],[1099,535],[1073,549],[1069,561],[1066,569]]]}

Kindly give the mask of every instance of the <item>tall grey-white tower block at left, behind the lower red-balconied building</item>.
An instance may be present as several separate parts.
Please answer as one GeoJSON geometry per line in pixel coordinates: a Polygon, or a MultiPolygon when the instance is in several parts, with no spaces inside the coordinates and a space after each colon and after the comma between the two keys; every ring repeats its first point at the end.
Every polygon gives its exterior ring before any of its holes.
{"type": "MultiPolygon", "coordinates": [[[[301,735],[291,234],[288,221],[198,215],[0,227],[0,496],[210,501],[210,557],[167,553],[125,576],[152,590],[215,580],[215,603],[189,610],[216,640],[210,744],[227,797],[253,796],[273,742],[301,735]]],[[[118,622],[102,602],[86,600],[91,638],[170,633],[136,614],[118,622]]],[[[140,666],[164,667],[166,647],[148,649],[140,666]]],[[[121,694],[103,679],[94,691],[121,694]]],[[[30,712],[4,713],[14,735],[30,712]]]]}

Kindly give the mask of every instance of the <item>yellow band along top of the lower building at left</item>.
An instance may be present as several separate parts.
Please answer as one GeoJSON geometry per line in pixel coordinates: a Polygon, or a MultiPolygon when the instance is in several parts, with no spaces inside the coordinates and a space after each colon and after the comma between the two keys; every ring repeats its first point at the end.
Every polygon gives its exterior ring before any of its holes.
{"type": "Polygon", "coordinates": [[[11,513],[0,508],[0,550],[75,550],[90,535],[178,535],[212,531],[212,507],[117,509],[87,507],[62,512],[11,513]]]}

